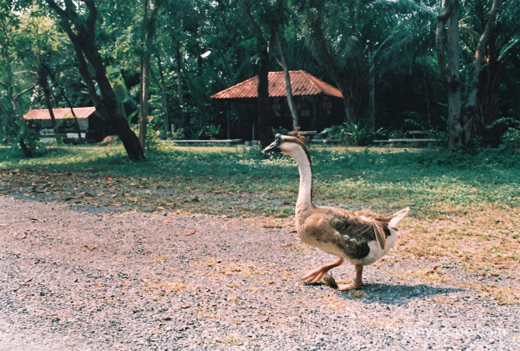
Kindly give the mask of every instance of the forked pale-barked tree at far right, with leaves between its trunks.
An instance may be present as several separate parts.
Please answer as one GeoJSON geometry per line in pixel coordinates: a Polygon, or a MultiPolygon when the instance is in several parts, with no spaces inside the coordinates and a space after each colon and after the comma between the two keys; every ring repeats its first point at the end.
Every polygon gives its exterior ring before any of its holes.
{"type": "MultiPolygon", "coordinates": [[[[376,0],[373,3],[386,4],[408,11],[410,14],[438,13],[435,51],[440,76],[448,95],[448,144],[451,149],[458,146],[467,149],[475,122],[481,125],[480,129],[486,123],[482,117],[480,118],[482,123],[479,123],[477,118],[479,105],[484,106],[482,98],[485,93],[479,82],[483,75],[482,71],[492,68],[491,48],[493,44],[499,43],[494,38],[504,37],[498,52],[505,52],[518,42],[517,2],[476,0],[459,6],[459,0],[443,0],[440,7],[434,2],[430,3],[431,7],[427,7],[428,4],[418,5],[411,0],[376,0]],[[513,13],[516,13],[516,17],[513,13]],[[505,28],[511,31],[505,31],[505,28]],[[464,50],[461,51],[461,48],[464,50]],[[463,53],[462,57],[461,53],[463,53]],[[461,76],[461,71],[465,75],[461,76]],[[480,97],[480,103],[477,97],[480,97]]],[[[497,87],[491,89],[496,90],[497,87]]],[[[492,92],[488,91],[488,93],[492,92]]],[[[496,104],[497,101],[493,103],[496,104]]]]}

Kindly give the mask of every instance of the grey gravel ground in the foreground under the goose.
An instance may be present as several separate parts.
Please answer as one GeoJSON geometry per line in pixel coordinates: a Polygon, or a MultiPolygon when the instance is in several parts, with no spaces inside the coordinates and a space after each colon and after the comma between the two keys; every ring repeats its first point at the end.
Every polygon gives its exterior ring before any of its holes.
{"type": "Polygon", "coordinates": [[[520,305],[463,288],[457,262],[402,281],[438,262],[399,247],[337,292],[298,280],[331,257],[291,219],[109,211],[0,195],[0,349],[519,349],[520,305]]]}

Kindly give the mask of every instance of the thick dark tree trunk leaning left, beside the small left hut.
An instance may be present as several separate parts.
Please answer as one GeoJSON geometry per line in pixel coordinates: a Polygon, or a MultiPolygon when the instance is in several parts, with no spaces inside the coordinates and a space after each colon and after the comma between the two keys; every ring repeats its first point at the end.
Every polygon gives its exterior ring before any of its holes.
{"type": "Polygon", "coordinates": [[[135,133],[130,129],[126,118],[118,108],[118,101],[106,75],[106,66],[101,59],[96,42],[96,19],[98,10],[94,0],[82,3],[64,0],[64,8],[54,0],[47,0],[49,7],[56,11],[64,31],[74,46],[78,68],[88,88],[96,111],[113,126],[123,142],[128,157],[132,160],[145,158],[144,151],[135,133]],[[85,7],[78,9],[77,5],[85,7]],[[94,70],[100,97],[97,96],[93,78],[90,76],[89,64],[94,70]]]}

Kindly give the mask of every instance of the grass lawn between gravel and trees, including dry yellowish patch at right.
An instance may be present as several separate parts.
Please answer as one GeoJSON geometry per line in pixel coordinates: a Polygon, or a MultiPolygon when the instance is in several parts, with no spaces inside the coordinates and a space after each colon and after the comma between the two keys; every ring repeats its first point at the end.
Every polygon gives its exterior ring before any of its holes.
{"type": "MultiPolygon", "coordinates": [[[[454,261],[500,280],[520,262],[520,155],[486,150],[346,149],[313,146],[314,202],[391,213],[410,207],[399,250],[454,261]]],[[[48,147],[23,159],[0,147],[0,193],[107,211],[168,211],[287,221],[298,171],[282,155],[245,147],[168,147],[140,163],[121,146],[48,147]]],[[[425,281],[435,272],[401,272],[425,281]]],[[[497,281],[498,281],[497,280],[497,281]]],[[[474,288],[520,303],[506,286],[474,288]]]]}

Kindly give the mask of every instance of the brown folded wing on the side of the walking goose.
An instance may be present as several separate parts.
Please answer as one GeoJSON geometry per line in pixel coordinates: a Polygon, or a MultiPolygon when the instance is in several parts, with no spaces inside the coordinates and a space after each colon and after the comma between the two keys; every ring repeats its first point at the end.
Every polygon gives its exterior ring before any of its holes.
{"type": "Polygon", "coordinates": [[[368,243],[373,240],[384,249],[386,237],[391,234],[386,218],[367,214],[358,215],[347,210],[323,208],[323,221],[330,225],[334,244],[350,258],[361,259],[368,255],[368,243]]]}

